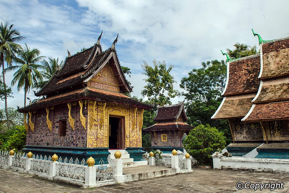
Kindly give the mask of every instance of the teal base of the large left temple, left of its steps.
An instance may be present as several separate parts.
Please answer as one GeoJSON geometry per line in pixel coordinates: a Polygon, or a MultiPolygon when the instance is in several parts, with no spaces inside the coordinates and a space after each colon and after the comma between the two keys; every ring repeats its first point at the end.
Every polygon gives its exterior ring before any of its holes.
{"type": "Polygon", "coordinates": [[[35,155],[46,155],[47,157],[53,154],[61,156],[62,161],[67,157],[68,161],[72,157],[73,161],[77,158],[79,164],[82,159],[85,161],[91,156],[95,159],[95,165],[99,164],[99,161],[103,159],[104,164],[108,163],[108,148],[77,148],[77,147],[57,147],[57,146],[26,146],[22,149],[25,153],[31,151],[35,155]]]}

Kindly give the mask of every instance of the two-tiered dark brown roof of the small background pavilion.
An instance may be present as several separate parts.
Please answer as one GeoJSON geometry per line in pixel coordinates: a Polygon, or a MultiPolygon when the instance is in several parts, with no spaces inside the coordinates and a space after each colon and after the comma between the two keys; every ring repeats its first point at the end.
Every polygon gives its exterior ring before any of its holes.
{"type": "Polygon", "coordinates": [[[156,130],[191,130],[193,127],[185,123],[188,120],[184,103],[158,107],[155,121],[158,123],[145,128],[145,131],[156,130]]]}

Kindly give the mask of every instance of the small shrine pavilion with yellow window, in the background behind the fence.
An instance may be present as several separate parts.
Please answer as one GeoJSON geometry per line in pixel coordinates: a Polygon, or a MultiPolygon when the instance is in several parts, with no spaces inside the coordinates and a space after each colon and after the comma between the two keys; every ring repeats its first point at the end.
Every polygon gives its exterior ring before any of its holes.
{"type": "Polygon", "coordinates": [[[151,149],[170,153],[173,149],[183,151],[182,137],[193,128],[185,123],[188,121],[184,103],[158,107],[154,118],[156,124],[144,131],[151,134],[151,149]]]}

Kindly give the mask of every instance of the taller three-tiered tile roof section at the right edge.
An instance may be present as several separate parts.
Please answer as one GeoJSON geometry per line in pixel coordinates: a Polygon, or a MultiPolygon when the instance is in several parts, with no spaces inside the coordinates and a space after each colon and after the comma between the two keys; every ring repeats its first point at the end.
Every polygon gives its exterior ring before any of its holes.
{"type": "Polygon", "coordinates": [[[260,45],[261,79],[245,122],[289,119],[289,37],[260,45]]]}

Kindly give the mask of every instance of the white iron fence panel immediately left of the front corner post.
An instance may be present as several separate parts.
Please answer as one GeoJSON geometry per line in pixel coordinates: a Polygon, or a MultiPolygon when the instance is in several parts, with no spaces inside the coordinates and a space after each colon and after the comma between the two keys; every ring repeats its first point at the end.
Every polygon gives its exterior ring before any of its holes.
{"type": "Polygon", "coordinates": [[[78,159],[76,158],[74,163],[73,159],[70,158],[69,163],[67,163],[67,158],[62,162],[61,157],[56,163],[56,176],[70,178],[84,182],[85,180],[85,160],[82,159],[81,165],[78,165],[78,159]]]}

